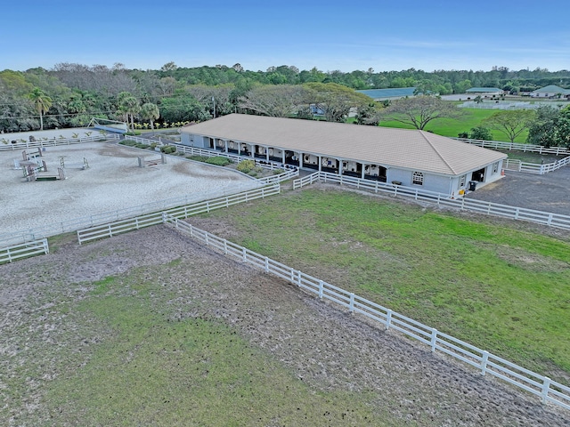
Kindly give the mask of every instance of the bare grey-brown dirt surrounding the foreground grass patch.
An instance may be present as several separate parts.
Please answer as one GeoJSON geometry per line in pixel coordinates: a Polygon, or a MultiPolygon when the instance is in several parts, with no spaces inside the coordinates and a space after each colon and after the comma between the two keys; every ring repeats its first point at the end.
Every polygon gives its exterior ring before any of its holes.
{"type": "Polygon", "coordinates": [[[95,280],[177,258],[186,269],[173,267],[161,281],[180,293],[173,303],[181,317],[224,319],[316,391],[377,393],[379,413],[387,410],[411,424],[570,425],[570,411],[543,406],[536,397],[212,253],[164,226],[87,246],[71,242],[53,254],[0,266],[0,421],[6,425],[14,415],[25,415],[41,425],[46,421],[43,390],[58,375],[50,371],[58,352],[50,349],[81,345],[86,355],[97,345],[97,337],[83,336],[81,325],[61,315],[62,307],[88,297],[95,280]],[[199,312],[189,311],[189,299],[201,302],[199,312]],[[32,333],[38,329],[41,333],[32,333]],[[27,382],[22,401],[10,399],[5,392],[9,379],[26,375],[37,364],[44,366],[44,377],[27,382]]]}

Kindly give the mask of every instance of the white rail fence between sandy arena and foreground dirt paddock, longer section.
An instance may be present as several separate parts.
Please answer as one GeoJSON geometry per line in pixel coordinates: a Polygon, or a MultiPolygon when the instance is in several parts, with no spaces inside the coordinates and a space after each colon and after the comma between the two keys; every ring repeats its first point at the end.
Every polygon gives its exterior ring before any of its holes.
{"type": "Polygon", "coordinates": [[[152,214],[137,216],[126,220],[109,222],[83,230],[77,230],[77,241],[79,242],[79,245],[81,245],[84,242],[98,240],[101,238],[110,238],[121,233],[126,233],[127,231],[140,230],[144,227],[160,224],[164,222],[163,216],[165,214],[174,218],[188,218],[191,215],[208,213],[222,207],[245,203],[257,198],[273,196],[274,194],[279,194],[280,192],[280,184],[274,184],[271,187],[252,189],[250,191],[233,194],[227,197],[209,199],[198,203],[193,203],[191,205],[177,206],[162,212],[154,212],[152,214]]]}

